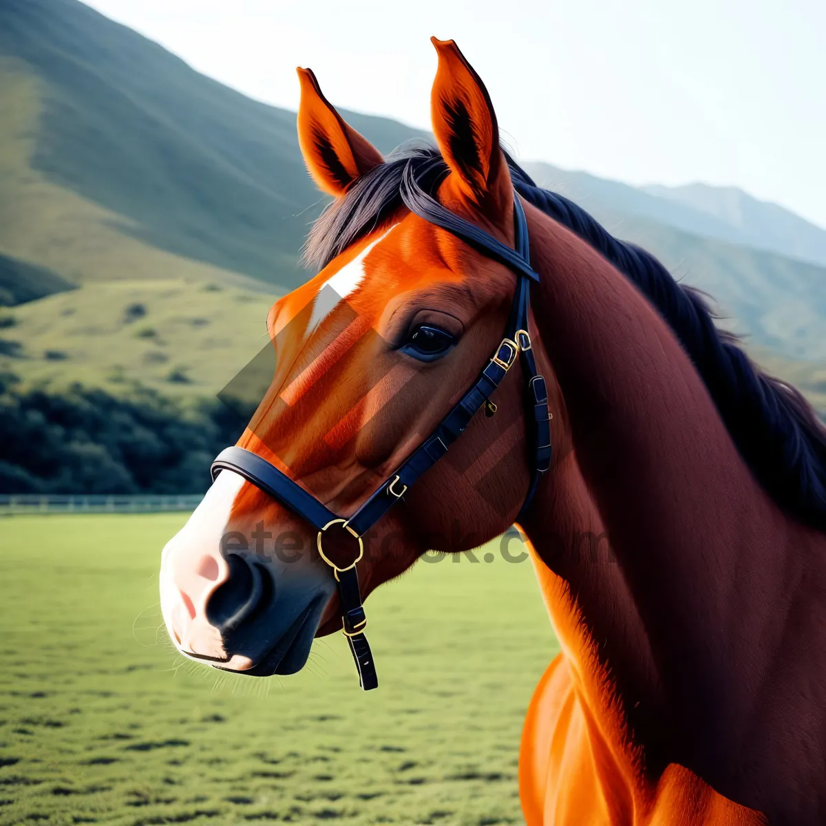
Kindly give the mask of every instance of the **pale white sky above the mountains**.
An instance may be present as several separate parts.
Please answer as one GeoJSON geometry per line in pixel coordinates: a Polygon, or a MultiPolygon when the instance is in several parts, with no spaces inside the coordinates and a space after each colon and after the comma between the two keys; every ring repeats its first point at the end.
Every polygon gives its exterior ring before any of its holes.
{"type": "Polygon", "coordinates": [[[456,40],[524,160],[733,185],[826,227],[826,0],[87,0],[240,92],[430,129],[456,40]]]}

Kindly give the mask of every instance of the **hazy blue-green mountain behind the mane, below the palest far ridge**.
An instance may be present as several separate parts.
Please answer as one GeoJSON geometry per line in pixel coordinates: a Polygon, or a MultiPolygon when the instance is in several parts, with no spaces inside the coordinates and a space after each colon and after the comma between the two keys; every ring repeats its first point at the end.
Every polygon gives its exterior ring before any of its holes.
{"type": "MultiPolygon", "coordinates": [[[[675,278],[707,292],[722,324],[748,342],[786,358],[826,359],[826,268],[724,240],[739,238],[738,230],[671,198],[551,164],[529,162],[525,169],[613,235],[655,254],[675,278]]],[[[805,223],[774,204],[765,206],[805,223]]]]}

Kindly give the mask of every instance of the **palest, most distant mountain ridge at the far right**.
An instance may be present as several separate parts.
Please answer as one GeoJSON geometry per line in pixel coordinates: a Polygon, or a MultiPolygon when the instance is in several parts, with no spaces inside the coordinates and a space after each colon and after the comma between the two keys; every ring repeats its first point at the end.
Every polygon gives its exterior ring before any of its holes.
{"type": "Polygon", "coordinates": [[[643,187],[643,191],[712,216],[739,243],[826,266],[826,230],[777,204],[758,201],[742,189],[690,183],[643,187]]]}

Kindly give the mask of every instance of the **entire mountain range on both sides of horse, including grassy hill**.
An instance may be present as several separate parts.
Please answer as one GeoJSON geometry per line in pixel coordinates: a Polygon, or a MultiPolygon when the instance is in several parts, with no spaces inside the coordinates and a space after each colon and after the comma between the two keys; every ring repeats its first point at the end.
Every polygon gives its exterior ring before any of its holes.
{"type": "MultiPolygon", "coordinates": [[[[299,250],[325,199],[295,113],[76,0],[0,0],[0,113],[0,304],[28,301],[0,317],[0,369],[217,392],[263,346],[268,302],[306,279],[299,250]]],[[[426,136],[344,116],[382,152],[426,136]]],[[[754,346],[826,359],[826,269],[798,260],[817,259],[822,230],[716,191],[526,165],[710,292],[754,346]]]]}

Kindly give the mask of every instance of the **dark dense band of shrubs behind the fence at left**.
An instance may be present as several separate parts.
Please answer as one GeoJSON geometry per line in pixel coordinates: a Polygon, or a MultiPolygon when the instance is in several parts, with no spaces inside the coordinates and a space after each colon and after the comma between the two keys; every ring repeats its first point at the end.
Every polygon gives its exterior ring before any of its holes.
{"type": "Polygon", "coordinates": [[[22,392],[0,375],[0,493],[197,493],[245,424],[220,401],[185,411],[150,391],[22,392]]]}

